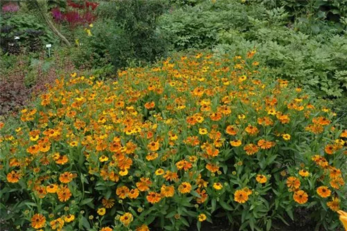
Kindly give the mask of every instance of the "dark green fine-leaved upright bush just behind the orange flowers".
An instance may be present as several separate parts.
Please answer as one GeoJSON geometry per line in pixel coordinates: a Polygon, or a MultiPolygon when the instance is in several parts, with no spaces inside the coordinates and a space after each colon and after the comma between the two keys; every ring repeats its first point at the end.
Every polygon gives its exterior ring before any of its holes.
{"type": "Polygon", "coordinates": [[[100,11],[103,26],[92,28],[90,42],[99,51],[110,52],[116,69],[125,67],[130,60],[152,62],[167,52],[167,42],[156,29],[156,19],[166,8],[165,1],[161,0],[103,4],[100,11]]]}

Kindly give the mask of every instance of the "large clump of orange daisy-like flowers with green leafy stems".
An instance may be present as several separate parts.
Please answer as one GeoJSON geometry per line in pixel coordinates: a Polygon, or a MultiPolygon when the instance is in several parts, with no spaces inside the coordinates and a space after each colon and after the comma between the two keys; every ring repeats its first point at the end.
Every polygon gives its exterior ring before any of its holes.
{"type": "Polygon", "coordinates": [[[1,218],[29,230],[239,230],[346,211],[335,113],[256,52],[174,57],[102,81],[60,78],[0,123],[1,218]],[[6,216],[4,216],[7,214],[6,216]]]}

